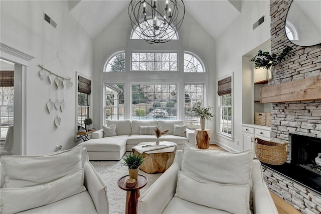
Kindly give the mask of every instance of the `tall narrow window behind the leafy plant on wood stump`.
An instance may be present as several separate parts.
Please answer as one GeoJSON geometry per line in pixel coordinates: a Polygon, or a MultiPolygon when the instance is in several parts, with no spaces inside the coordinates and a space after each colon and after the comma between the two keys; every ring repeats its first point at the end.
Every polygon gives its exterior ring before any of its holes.
{"type": "Polygon", "coordinates": [[[204,86],[203,84],[185,85],[185,123],[189,129],[201,128],[200,118],[192,117],[191,109],[193,106],[204,105],[204,86]]]}

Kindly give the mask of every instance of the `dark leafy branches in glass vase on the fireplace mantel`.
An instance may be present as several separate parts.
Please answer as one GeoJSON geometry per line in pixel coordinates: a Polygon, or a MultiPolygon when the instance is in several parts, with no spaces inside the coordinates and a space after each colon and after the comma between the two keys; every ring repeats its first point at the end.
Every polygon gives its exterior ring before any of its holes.
{"type": "Polygon", "coordinates": [[[270,53],[268,51],[261,51],[259,50],[257,55],[255,55],[251,62],[255,62],[255,68],[265,68],[266,70],[271,68],[271,79],[272,84],[275,84],[274,82],[274,72],[276,67],[290,58],[291,56],[294,56],[295,53],[292,52],[293,48],[290,46],[286,46],[282,49],[282,51],[279,54],[276,53],[270,53]]]}

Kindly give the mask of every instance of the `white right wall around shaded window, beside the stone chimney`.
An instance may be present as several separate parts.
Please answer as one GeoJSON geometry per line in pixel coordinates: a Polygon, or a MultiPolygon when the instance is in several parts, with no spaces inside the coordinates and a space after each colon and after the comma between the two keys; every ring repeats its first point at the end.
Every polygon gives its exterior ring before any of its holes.
{"type": "MultiPolygon", "coordinates": [[[[242,56],[270,38],[270,2],[242,1],[239,17],[215,40],[216,77],[234,72],[233,141],[215,135],[215,141],[231,150],[241,151],[242,145],[242,56]],[[263,15],[265,22],[254,31],[252,25],[263,15]],[[237,141],[239,141],[237,145],[237,141]]],[[[248,79],[251,84],[252,79],[248,79]]],[[[215,83],[217,84],[217,82],[215,83]]],[[[218,98],[217,98],[218,99],[218,98]]],[[[251,105],[253,103],[249,103],[251,105]]]]}

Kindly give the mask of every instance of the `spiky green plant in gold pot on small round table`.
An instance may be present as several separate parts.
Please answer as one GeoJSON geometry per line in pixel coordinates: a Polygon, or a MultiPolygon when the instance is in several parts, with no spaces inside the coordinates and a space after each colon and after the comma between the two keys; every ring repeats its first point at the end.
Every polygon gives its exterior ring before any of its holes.
{"type": "Polygon", "coordinates": [[[144,159],[141,154],[131,152],[123,157],[122,164],[128,167],[129,178],[137,180],[138,168],[143,162],[144,159]]]}

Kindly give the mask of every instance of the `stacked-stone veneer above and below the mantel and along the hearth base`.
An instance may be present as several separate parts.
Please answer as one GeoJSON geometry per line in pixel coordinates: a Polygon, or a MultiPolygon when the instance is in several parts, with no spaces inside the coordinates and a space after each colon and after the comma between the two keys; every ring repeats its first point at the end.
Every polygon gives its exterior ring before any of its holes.
{"type": "MultiPolygon", "coordinates": [[[[321,74],[321,45],[300,47],[285,35],[285,19],[292,0],[270,0],[271,51],[279,53],[291,46],[295,56],[278,66],[276,84],[321,74]]],[[[289,133],[321,138],[321,101],[272,103],[272,132],[274,142],[289,142],[289,133]]],[[[291,146],[289,145],[289,154],[291,146]]],[[[290,162],[288,155],[287,162],[290,162]]],[[[284,176],[263,167],[264,179],[272,192],[303,213],[321,212],[321,195],[306,189],[284,176]]]]}

